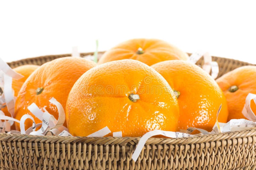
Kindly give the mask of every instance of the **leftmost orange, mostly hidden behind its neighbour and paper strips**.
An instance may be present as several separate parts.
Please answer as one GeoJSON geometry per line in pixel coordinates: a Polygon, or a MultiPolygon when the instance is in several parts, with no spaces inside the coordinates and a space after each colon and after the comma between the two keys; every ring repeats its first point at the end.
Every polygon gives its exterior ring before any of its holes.
{"type": "MultiPolygon", "coordinates": [[[[14,96],[18,96],[18,93],[23,83],[27,80],[28,76],[32,74],[38,67],[39,66],[37,65],[27,64],[13,68],[15,72],[24,76],[19,80],[12,79],[12,89],[14,91],[14,96]]],[[[1,110],[4,112],[5,116],[11,116],[11,114],[7,110],[7,107],[2,108],[1,110]]]]}

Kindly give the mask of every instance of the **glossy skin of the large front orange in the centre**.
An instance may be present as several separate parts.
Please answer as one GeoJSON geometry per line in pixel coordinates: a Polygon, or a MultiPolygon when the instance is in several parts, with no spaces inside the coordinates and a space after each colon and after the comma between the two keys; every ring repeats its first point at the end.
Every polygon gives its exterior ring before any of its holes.
{"type": "Polygon", "coordinates": [[[122,131],[123,137],[155,129],[176,131],[178,118],[178,102],[167,81],[146,64],[128,59],[84,73],[66,105],[68,130],[74,136],[88,136],[105,126],[111,132],[122,131]],[[129,94],[138,94],[140,99],[132,102],[129,94]]]}

